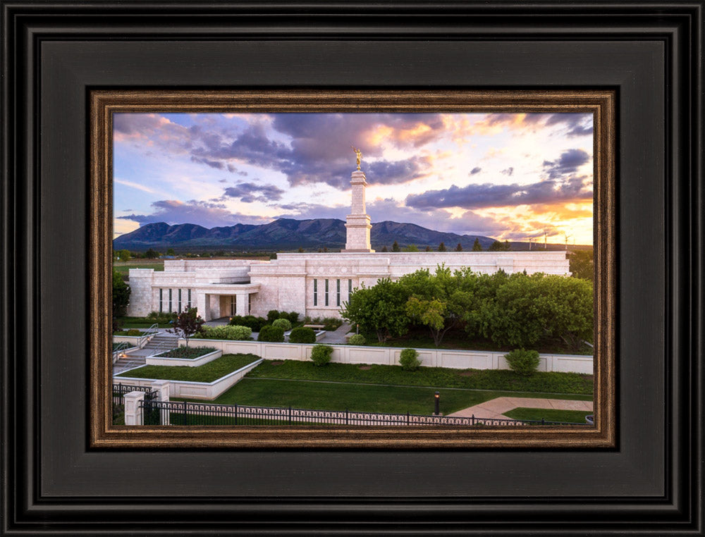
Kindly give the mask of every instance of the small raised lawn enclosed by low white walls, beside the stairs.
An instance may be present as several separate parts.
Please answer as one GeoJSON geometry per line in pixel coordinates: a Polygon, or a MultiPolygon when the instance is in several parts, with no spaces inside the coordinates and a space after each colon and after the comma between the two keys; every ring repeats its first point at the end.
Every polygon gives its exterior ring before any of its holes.
{"type": "Polygon", "coordinates": [[[202,366],[142,366],[117,376],[159,378],[168,381],[213,382],[259,360],[255,354],[223,354],[202,366]]]}

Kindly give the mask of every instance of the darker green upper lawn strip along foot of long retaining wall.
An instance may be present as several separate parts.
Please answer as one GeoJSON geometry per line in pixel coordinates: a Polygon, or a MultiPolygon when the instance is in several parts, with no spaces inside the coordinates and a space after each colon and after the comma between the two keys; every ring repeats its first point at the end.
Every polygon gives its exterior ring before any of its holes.
{"type": "MultiPolygon", "coordinates": [[[[313,362],[264,360],[247,376],[250,378],[287,378],[302,381],[336,381],[532,393],[580,395],[592,395],[593,393],[592,375],[577,373],[539,372],[532,376],[523,377],[513,371],[492,369],[463,370],[421,367],[417,371],[404,371],[400,366],[364,366],[369,369],[361,369],[361,367],[358,364],[328,364],[321,367],[314,366],[313,362]]],[[[591,397],[587,397],[587,399],[590,400],[591,397]]]]}

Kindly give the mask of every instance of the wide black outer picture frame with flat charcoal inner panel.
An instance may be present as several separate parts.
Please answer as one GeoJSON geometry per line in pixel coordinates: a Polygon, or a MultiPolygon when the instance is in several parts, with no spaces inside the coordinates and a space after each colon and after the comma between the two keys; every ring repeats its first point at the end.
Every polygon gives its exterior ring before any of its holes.
{"type": "Polygon", "coordinates": [[[703,1],[1,8],[3,534],[703,534],[703,1]],[[617,447],[90,448],[101,87],[615,90],[617,447]]]}

